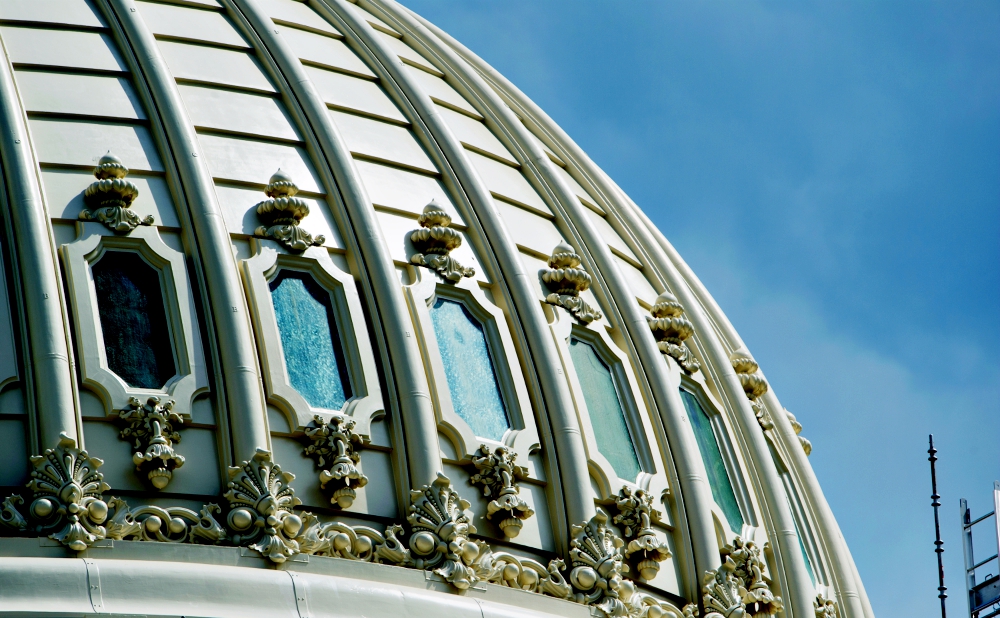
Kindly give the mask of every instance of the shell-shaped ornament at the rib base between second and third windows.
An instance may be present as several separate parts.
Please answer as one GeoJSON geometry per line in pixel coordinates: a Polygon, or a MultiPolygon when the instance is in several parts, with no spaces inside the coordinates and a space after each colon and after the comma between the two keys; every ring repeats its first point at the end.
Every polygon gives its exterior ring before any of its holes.
{"type": "Polygon", "coordinates": [[[435,573],[459,590],[475,586],[490,574],[489,546],[473,541],[475,534],[465,511],[470,504],[438,473],[430,485],[410,490],[410,555],[418,569],[435,573]]]}

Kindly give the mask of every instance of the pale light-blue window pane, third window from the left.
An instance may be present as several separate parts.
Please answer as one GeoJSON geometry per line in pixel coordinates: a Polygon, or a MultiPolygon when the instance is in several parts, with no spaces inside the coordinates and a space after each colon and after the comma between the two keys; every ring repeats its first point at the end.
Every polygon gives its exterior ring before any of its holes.
{"type": "Polygon", "coordinates": [[[483,325],[465,305],[443,298],[431,307],[431,322],[455,414],[477,436],[499,442],[510,421],[483,325]]]}

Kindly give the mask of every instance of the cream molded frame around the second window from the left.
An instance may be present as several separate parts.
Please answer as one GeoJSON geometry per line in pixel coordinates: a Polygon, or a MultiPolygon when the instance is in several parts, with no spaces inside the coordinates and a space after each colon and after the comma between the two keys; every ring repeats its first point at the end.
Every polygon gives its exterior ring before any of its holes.
{"type": "MultiPolygon", "coordinates": [[[[371,423],[385,415],[382,390],[367,320],[361,306],[354,276],[336,266],[324,247],[310,247],[292,253],[276,242],[251,239],[252,257],[242,260],[241,273],[250,309],[257,351],[264,378],[267,404],[278,409],[292,433],[301,432],[315,416],[329,421],[333,416],[349,416],[355,433],[371,436],[371,423]],[[285,367],[284,349],[271,297],[270,283],[281,270],[312,276],[330,294],[333,319],[340,337],[351,396],[339,410],[314,408],[292,386],[285,367]]],[[[271,431],[284,432],[284,428],[271,431]]]]}

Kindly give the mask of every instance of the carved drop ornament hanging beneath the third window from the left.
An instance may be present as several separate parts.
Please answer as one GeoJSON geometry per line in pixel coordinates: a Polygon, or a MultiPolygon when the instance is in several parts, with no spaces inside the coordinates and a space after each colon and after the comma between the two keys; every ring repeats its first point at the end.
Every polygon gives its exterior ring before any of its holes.
{"type": "Polygon", "coordinates": [[[491,449],[485,444],[472,457],[472,464],[478,472],[472,477],[473,485],[482,485],[483,495],[491,498],[486,507],[487,519],[500,514],[500,529],[505,537],[512,539],[521,532],[522,522],[535,514],[528,503],[519,495],[521,488],[516,479],[526,478],[528,470],[514,463],[517,453],[505,446],[491,449]]]}

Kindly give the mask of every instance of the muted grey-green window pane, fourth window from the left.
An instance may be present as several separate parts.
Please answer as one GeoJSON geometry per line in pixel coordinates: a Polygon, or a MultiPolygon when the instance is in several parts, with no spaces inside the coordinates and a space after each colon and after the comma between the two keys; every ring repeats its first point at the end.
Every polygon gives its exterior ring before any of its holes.
{"type": "Polygon", "coordinates": [[[570,340],[569,355],[583,389],[583,399],[597,438],[597,449],[619,477],[634,480],[642,468],[639,467],[632,435],[625,423],[625,411],[618,399],[611,369],[593,346],[578,339],[570,340]]]}

